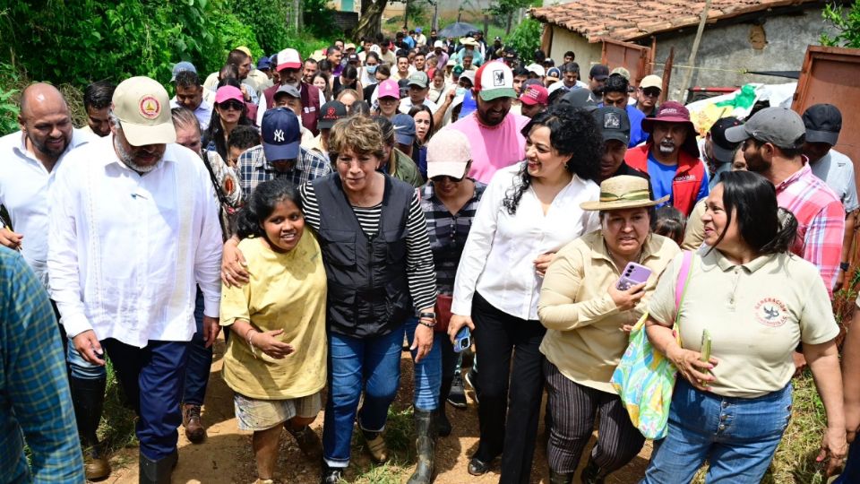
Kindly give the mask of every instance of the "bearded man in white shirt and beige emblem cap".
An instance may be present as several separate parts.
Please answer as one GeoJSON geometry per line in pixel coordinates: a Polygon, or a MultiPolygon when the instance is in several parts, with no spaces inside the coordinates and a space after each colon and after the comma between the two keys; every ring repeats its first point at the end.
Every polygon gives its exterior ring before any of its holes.
{"type": "Polygon", "coordinates": [[[206,343],[219,333],[218,206],[158,82],[121,82],[110,116],[112,134],[73,151],[51,190],[51,295],[83,359],[103,366],[107,350],[140,418],[140,482],[169,482],[195,284],[206,343]]]}

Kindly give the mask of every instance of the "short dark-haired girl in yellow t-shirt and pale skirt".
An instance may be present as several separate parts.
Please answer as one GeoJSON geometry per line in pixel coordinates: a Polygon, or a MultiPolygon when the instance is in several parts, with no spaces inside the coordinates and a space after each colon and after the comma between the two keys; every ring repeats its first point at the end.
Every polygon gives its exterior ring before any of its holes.
{"type": "Polygon", "coordinates": [[[236,392],[238,427],[254,431],[263,484],[272,482],[281,426],[305,455],[322,455],[308,425],[322,409],[325,386],[326,278],[298,194],[282,178],[256,187],[237,231],[250,281],[221,290],[221,325],[233,333],[223,371],[236,392]]]}

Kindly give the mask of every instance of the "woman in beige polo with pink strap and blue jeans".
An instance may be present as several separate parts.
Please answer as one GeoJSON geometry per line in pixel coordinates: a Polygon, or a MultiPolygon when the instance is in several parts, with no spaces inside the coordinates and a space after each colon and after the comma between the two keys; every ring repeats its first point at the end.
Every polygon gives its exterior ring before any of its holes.
{"type": "Polygon", "coordinates": [[[827,414],[818,460],[829,459],[830,473],[847,445],[839,326],[827,289],[815,266],[789,251],[797,220],[778,209],[774,186],[747,171],[720,180],[702,215],[706,246],[693,256],[681,306],[675,311],[681,257],[649,300],[649,340],[678,379],[668,435],[642,482],[689,482],[706,460],[708,482],[760,482],[791,418],[799,342],[827,414]],[[705,332],[710,359],[700,354],[705,332]]]}

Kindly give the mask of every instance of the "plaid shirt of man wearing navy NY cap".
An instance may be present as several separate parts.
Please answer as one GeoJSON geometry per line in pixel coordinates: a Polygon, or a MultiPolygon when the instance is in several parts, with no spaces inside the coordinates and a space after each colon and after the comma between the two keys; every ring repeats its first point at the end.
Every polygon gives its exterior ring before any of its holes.
{"type": "Polygon", "coordinates": [[[273,180],[278,177],[288,177],[293,186],[298,189],[305,182],[331,173],[331,164],[315,151],[307,151],[301,148],[298,153],[296,166],[289,171],[278,171],[266,160],[262,144],[258,144],[239,156],[236,163],[236,172],[239,176],[239,185],[242,186],[242,194],[247,201],[251,192],[264,181],[273,180]]]}

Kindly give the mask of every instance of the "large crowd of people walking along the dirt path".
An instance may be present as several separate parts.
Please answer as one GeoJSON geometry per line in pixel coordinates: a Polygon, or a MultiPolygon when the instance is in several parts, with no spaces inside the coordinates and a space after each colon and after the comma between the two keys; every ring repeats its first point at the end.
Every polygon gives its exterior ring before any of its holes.
{"type": "MultiPolygon", "coordinates": [[[[410,484],[434,480],[466,385],[469,474],[498,460],[500,482],[530,481],[546,392],[550,482],[572,483],[598,422],[581,481],[601,483],[645,442],[610,384],[643,317],[678,379],[642,482],[704,462],[709,482],[759,482],[806,366],[819,461],[845,463],[860,336],[840,368],[830,296],[860,203],[839,108],[759,108],[699,136],[657,75],[581,79],[573,52],[526,65],[480,31],[429,34],[255,63],[239,47],[205,77],[178,62],[172,99],[147,77],[94,82],[80,128],[55,87],[22,92],[21,130],[0,138],[0,480],[110,475],[109,359],[140,481],[169,482],[178,429],[206,438],[223,332],[258,484],[290,480],[282,429],[323,484],[344,478],[356,423],[386,462],[404,341],[410,484]]],[[[860,481],[857,448],[843,482],[860,481]]]]}

